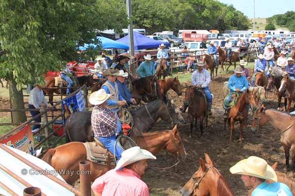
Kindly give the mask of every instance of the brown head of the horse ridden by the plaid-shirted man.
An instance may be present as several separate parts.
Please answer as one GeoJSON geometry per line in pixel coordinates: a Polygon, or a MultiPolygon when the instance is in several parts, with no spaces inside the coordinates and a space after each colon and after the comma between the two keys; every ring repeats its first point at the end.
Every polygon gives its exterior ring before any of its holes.
{"type": "Polygon", "coordinates": [[[180,134],[177,130],[177,125],[170,131],[170,140],[166,147],[166,149],[174,154],[178,159],[180,158],[181,161],[184,161],[186,158],[185,148],[182,144],[180,134]]]}

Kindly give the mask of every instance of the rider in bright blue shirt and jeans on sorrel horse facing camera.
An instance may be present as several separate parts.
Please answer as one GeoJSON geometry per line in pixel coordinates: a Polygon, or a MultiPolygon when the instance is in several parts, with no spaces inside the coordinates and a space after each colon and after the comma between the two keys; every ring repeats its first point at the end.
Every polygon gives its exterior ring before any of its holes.
{"type": "MultiPolygon", "coordinates": [[[[228,82],[228,88],[230,90],[230,93],[234,93],[234,92],[243,93],[245,90],[248,89],[248,80],[242,74],[243,74],[242,68],[237,67],[235,71],[235,75],[231,76],[228,82]]],[[[232,98],[233,97],[231,94],[226,96],[225,98],[226,104],[224,106],[228,105],[228,103],[232,101],[232,98]]],[[[226,107],[223,108],[223,118],[228,118],[226,107]]]]}

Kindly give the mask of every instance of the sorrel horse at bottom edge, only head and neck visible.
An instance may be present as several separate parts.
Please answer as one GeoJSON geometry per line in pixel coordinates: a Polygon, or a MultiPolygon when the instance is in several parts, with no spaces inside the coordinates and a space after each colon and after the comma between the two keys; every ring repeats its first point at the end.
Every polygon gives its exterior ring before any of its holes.
{"type": "Polygon", "coordinates": [[[199,158],[200,167],[180,190],[181,196],[235,196],[209,155],[199,158]]]}

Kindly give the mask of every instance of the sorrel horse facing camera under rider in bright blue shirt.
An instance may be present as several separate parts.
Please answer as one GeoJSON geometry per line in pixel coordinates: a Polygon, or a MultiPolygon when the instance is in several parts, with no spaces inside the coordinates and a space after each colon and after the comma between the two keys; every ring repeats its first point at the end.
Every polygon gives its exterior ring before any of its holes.
{"type": "Polygon", "coordinates": [[[243,92],[240,96],[238,96],[235,105],[230,108],[229,116],[228,118],[224,119],[224,129],[226,128],[226,123],[228,122],[228,126],[231,127],[231,135],[230,135],[230,141],[233,141],[233,133],[234,133],[234,125],[236,121],[239,121],[240,123],[240,134],[239,134],[239,141],[243,141],[243,127],[244,124],[247,124],[247,105],[250,105],[252,108],[252,111],[256,111],[256,100],[255,96],[251,91],[248,89],[243,92]]]}

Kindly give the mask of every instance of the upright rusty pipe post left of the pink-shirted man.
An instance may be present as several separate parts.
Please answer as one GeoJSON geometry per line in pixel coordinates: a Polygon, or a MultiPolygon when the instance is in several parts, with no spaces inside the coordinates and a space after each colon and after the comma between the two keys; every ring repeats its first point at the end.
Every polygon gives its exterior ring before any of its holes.
{"type": "Polygon", "coordinates": [[[90,162],[80,161],[80,192],[83,196],[91,196],[90,162]]]}

